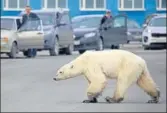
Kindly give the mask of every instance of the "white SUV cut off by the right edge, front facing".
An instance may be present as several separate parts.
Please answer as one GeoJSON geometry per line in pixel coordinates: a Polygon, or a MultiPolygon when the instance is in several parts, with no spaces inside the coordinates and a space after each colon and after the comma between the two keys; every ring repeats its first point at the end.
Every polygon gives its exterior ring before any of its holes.
{"type": "Polygon", "coordinates": [[[152,48],[166,48],[166,14],[153,17],[149,23],[143,25],[142,45],[145,50],[152,48]]]}

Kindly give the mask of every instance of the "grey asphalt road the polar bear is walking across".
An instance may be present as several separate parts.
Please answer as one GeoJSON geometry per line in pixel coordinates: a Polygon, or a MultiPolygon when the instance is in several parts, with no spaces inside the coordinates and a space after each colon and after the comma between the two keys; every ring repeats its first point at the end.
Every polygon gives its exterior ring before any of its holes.
{"type": "Polygon", "coordinates": [[[161,91],[158,104],[147,104],[150,97],[137,85],[129,88],[120,104],[108,104],[104,98],[112,96],[116,81],[109,80],[99,103],[84,104],[87,81],[82,77],[55,82],[56,70],[76,58],[60,55],[50,57],[40,52],[33,59],[1,59],[1,111],[2,112],[165,112],[166,111],[166,50],[144,51],[131,44],[123,49],[142,56],[161,91]]]}

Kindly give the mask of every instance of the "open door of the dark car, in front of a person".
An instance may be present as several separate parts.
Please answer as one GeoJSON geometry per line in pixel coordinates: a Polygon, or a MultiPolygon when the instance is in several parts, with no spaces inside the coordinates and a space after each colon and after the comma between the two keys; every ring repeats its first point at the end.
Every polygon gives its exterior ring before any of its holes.
{"type": "Polygon", "coordinates": [[[118,15],[108,20],[104,27],[103,38],[107,46],[127,43],[127,17],[118,15]]]}

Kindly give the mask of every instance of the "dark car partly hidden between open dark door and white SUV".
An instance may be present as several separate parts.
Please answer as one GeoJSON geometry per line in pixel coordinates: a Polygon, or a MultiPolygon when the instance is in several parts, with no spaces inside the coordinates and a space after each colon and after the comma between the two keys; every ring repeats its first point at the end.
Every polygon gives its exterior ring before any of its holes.
{"type": "Polygon", "coordinates": [[[130,41],[142,42],[142,32],[143,32],[142,27],[135,20],[132,19],[128,19],[127,26],[128,26],[128,32],[127,32],[128,43],[130,41]]]}

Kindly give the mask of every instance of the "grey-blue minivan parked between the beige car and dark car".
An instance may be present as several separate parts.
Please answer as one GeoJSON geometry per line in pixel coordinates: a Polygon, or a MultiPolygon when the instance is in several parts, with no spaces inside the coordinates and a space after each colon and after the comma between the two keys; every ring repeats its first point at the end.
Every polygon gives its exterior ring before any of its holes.
{"type": "MultiPolygon", "coordinates": [[[[32,12],[42,20],[42,41],[44,43],[38,51],[49,50],[51,56],[59,55],[60,51],[71,55],[74,38],[69,11],[54,9],[32,10],[32,12]]],[[[23,14],[24,12],[20,15],[23,14]]]]}

